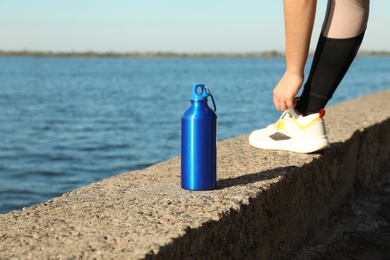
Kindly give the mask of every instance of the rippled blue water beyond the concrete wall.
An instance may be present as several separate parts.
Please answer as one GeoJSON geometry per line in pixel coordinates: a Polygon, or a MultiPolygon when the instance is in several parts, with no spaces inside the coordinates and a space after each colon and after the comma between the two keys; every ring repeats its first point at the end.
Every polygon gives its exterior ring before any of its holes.
{"type": "MultiPolygon", "coordinates": [[[[194,83],[219,140],[275,121],[284,60],[0,58],[0,213],[180,154],[194,83]]],[[[390,58],[358,57],[330,104],[390,87],[390,58]]]]}

